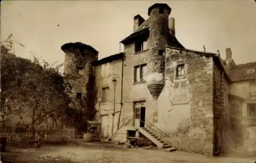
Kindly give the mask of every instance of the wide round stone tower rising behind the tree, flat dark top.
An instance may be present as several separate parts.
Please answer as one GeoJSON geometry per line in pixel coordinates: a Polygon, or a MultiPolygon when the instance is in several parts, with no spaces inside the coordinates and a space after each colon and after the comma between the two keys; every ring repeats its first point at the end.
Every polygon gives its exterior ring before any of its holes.
{"type": "Polygon", "coordinates": [[[98,52],[81,42],[63,44],[61,50],[65,52],[64,75],[72,86],[71,97],[80,99],[86,91],[89,73],[93,71],[91,63],[98,60],[98,52]]]}

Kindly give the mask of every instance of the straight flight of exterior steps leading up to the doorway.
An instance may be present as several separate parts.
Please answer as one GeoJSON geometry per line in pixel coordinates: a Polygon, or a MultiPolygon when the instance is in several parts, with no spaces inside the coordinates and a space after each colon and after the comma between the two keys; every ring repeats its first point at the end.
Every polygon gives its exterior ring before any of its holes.
{"type": "Polygon", "coordinates": [[[170,144],[164,142],[161,138],[159,138],[156,134],[154,134],[150,129],[146,127],[140,127],[139,132],[148,139],[150,139],[150,141],[152,141],[157,146],[158,149],[164,149],[169,152],[177,150],[176,148],[172,148],[170,144]]]}

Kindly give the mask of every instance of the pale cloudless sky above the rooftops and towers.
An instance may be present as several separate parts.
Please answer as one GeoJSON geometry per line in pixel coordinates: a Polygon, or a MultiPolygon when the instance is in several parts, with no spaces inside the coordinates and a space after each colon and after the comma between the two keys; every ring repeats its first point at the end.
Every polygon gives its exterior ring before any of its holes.
{"type": "MultiPolygon", "coordinates": [[[[231,48],[236,64],[256,62],[256,3],[219,1],[2,1],[1,41],[10,33],[27,48],[16,55],[63,63],[60,46],[83,42],[99,51],[99,59],[119,53],[119,42],[133,32],[133,17],[166,3],[175,18],[176,37],[186,49],[221,52],[231,48]],[[58,26],[59,25],[59,26],[58,26]]],[[[122,50],[123,51],[123,48],[122,50]]]]}

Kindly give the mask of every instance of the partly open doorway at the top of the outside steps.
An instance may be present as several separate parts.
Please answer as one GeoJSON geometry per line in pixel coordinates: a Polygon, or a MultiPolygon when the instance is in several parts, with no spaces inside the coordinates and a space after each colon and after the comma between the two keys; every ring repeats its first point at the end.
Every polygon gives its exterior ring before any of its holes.
{"type": "Polygon", "coordinates": [[[134,127],[145,127],[145,101],[134,103],[134,127]]]}

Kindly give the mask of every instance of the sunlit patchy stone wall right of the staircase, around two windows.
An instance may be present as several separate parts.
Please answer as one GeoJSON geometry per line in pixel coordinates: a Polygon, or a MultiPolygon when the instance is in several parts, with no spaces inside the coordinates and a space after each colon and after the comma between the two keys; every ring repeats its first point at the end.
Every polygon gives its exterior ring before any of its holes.
{"type": "Polygon", "coordinates": [[[165,87],[159,97],[158,128],[172,138],[174,147],[212,154],[213,60],[201,53],[166,49],[165,87]],[[185,78],[176,78],[176,67],[185,64],[185,78]],[[186,100],[174,103],[173,86],[185,82],[186,100]]]}

